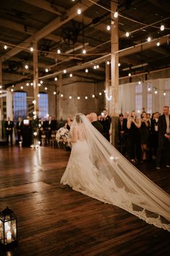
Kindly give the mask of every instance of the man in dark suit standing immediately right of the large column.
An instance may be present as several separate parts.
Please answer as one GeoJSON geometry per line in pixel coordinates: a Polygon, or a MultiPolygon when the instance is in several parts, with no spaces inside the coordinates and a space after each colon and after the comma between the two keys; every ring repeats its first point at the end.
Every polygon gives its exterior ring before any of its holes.
{"type": "Polygon", "coordinates": [[[127,152],[127,118],[121,113],[119,115],[118,123],[118,133],[119,133],[119,149],[122,154],[127,152]]]}

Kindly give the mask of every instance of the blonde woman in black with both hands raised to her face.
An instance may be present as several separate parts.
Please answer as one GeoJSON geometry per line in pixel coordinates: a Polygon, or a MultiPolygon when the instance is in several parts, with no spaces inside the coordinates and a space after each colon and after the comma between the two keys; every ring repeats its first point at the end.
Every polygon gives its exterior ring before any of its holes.
{"type": "Polygon", "coordinates": [[[127,118],[127,145],[128,156],[131,162],[136,162],[136,159],[138,162],[141,160],[140,125],[141,120],[137,118],[136,112],[133,110],[127,118]]]}

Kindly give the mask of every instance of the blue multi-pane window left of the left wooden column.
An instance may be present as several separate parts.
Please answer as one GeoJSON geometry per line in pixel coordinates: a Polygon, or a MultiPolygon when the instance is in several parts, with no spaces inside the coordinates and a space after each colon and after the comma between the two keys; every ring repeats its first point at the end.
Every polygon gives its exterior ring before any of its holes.
{"type": "Polygon", "coordinates": [[[27,115],[27,93],[14,92],[14,122],[17,122],[18,117],[25,118],[27,115]]]}

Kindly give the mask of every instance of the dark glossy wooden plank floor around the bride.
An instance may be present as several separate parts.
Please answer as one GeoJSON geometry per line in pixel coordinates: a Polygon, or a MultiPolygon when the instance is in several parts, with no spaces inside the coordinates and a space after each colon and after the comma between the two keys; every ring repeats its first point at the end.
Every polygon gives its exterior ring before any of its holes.
{"type": "MultiPolygon", "coordinates": [[[[62,186],[69,152],[0,148],[0,209],[18,218],[19,246],[1,256],[169,255],[170,234],[134,215],[62,186]]],[[[170,170],[140,170],[170,192],[170,170]]]]}

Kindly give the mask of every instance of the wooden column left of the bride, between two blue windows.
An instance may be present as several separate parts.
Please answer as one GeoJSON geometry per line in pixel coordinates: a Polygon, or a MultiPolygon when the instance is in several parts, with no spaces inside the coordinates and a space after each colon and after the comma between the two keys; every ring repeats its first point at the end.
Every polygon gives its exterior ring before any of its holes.
{"type": "Polygon", "coordinates": [[[33,94],[34,94],[34,111],[36,112],[36,116],[39,115],[39,106],[38,106],[38,51],[37,51],[37,42],[33,44],[33,94]]]}

